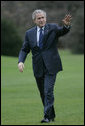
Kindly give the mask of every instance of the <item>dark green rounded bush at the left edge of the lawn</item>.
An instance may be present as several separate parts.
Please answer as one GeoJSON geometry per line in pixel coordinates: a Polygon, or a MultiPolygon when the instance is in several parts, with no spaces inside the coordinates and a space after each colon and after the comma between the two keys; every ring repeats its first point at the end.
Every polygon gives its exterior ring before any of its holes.
{"type": "Polygon", "coordinates": [[[22,40],[16,26],[7,19],[1,20],[1,54],[18,56],[22,40]]]}

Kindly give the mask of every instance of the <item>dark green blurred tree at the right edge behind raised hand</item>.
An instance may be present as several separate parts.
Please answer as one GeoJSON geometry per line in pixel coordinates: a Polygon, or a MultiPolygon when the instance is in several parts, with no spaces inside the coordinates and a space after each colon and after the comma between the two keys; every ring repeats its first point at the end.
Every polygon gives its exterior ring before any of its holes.
{"type": "Polygon", "coordinates": [[[84,10],[77,10],[76,17],[72,26],[71,38],[69,47],[72,53],[84,53],[84,10]]]}

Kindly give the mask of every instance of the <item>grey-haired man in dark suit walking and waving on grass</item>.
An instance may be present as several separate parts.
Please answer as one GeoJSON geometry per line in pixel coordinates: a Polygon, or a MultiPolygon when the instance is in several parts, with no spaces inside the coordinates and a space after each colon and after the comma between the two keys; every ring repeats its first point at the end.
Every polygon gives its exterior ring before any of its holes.
{"type": "Polygon", "coordinates": [[[44,118],[41,121],[54,121],[54,84],[56,75],[62,70],[61,59],[57,50],[57,42],[60,36],[70,30],[71,15],[66,15],[63,26],[46,23],[46,12],[35,10],[32,19],[35,27],[26,31],[25,40],[19,53],[18,68],[23,72],[24,61],[27,54],[32,52],[34,76],[44,106],[44,118]]]}

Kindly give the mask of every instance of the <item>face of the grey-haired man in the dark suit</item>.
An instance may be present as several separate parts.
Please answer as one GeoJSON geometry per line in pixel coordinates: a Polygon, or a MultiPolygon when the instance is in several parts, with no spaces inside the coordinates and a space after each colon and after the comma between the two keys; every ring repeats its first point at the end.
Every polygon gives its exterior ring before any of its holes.
{"type": "Polygon", "coordinates": [[[36,18],[34,20],[34,23],[39,26],[39,27],[43,27],[46,24],[46,17],[43,13],[38,13],[36,14],[36,18]]]}

